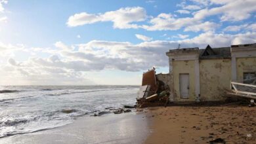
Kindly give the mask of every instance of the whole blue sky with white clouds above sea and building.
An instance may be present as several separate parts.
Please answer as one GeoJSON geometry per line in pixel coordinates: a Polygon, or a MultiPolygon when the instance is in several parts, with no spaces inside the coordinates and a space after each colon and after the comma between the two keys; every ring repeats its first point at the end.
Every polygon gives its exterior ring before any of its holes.
{"type": "Polygon", "coordinates": [[[141,84],[173,48],[256,43],[255,0],[0,0],[0,85],[141,84]]]}

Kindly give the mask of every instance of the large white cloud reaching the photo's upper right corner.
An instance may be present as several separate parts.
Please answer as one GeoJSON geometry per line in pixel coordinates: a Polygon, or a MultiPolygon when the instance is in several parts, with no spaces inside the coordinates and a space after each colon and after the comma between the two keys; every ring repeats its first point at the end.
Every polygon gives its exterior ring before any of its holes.
{"type": "MultiPolygon", "coordinates": [[[[196,0],[194,2],[202,5],[209,5],[209,1],[196,0]]],[[[211,3],[219,4],[220,6],[215,6],[211,9],[205,8],[198,10],[193,13],[193,17],[185,18],[175,18],[175,16],[172,14],[161,13],[158,16],[150,19],[150,25],[144,25],[142,27],[149,31],[177,30],[181,29],[182,27],[184,27],[185,31],[212,31],[218,27],[219,24],[215,24],[213,22],[203,22],[203,19],[208,16],[220,14],[221,21],[238,21],[249,18],[251,13],[256,11],[256,7],[254,7],[256,5],[256,1],[254,0],[223,1],[222,3],[218,3],[218,1],[211,1],[211,3]]],[[[178,5],[178,7],[186,9],[192,6],[186,5],[186,3],[183,1],[178,5]]]]}

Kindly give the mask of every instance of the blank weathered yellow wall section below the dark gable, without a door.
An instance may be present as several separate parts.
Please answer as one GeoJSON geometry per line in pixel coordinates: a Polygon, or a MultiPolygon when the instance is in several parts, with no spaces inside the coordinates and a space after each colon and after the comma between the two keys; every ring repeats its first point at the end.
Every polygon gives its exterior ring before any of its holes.
{"type": "Polygon", "coordinates": [[[231,60],[200,60],[200,101],[223,99],[224,88],[230,89],[231,60]]]}

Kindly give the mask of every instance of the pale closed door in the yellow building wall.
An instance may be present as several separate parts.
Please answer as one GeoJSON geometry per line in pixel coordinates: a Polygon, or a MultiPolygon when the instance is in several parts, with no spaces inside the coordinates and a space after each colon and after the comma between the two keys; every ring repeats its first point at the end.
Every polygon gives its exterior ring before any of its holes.
{"type": "Polygon", "coordinates": [[[181,98],[188,98],[189,95],[189,74],[180,74],[181,98]]]}

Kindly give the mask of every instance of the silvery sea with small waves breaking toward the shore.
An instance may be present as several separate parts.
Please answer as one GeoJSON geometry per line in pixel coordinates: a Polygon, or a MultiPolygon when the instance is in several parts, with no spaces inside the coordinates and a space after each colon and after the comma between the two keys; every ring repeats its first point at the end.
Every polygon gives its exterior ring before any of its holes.
{"type": "Polygon", "coordinates": [[[48,130],[135,105],[139,86],[0,86],[0,137],[48,130]]]}

